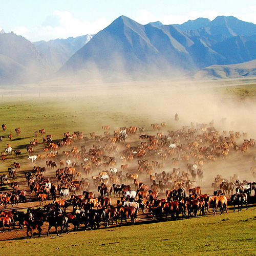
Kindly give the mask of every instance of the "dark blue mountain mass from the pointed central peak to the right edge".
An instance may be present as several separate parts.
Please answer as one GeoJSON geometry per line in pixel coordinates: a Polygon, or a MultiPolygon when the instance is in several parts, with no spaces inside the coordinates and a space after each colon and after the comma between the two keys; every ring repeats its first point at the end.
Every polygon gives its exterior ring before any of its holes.
{"type": "Polygon", "coordinates": [[[77,51],[60,73],[83,73],[88,78],[118,73],[133,79],[173,77],[255,59],[255,35],[256,25],[232,16],[211,22],[198,18],[180,26],[159,22],[143,26],[120,16],[77,51]]]}

